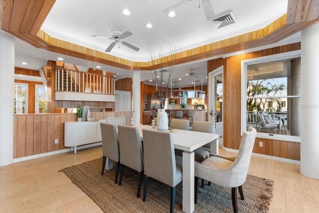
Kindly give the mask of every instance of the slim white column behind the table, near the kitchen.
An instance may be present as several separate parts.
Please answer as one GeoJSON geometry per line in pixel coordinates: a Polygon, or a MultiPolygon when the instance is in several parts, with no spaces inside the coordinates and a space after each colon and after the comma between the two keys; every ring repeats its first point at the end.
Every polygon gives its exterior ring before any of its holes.
{"type": "Polygon", "coordinates": [[[134,125],[141,124],[141,71],[133,71],[133,110],[134,125]]]}

